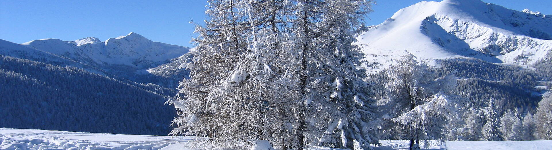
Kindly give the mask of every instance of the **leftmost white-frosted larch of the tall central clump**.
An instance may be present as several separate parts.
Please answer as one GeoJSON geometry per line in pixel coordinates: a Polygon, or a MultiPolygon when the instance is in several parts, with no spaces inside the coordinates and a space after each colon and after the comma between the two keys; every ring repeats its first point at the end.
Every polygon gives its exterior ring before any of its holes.
{"type": "Polygon", "coordinates": [[[171,134],[210,137],[211,141],[224,143],[256,130],[251,123],[241,126],[243,118],[252,121],[258,117],[253,102],[232,97],[247,93],[226,91],[228,82],[247,77],[245,72],[240,74],[242,78],[230,73],[247,51],[243,34],[248,27],[242,23],[246,13],[238,9],[243,7],[241,2],[210,0],[208,4],[205,14],[210,19],[205,26],[196,25],[198,37],[192,40],[195,47],[190,49],[193,60],[184,65],[190,70],[190,79],[181,82],[177,99],[169,101],[179,115],[173,120],[177,128],[171,134]]]}

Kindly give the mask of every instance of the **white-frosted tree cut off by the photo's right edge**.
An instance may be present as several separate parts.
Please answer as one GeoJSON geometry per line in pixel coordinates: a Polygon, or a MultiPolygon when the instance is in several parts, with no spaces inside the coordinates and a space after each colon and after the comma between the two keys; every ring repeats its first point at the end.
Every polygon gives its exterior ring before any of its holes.
{"type": "Polygon", "coordinates": [[[534,115],[537,123],[535,135],[540,140],[552,140],[552,93],[548,93],[539,102],[537,113],[534,115]]]}

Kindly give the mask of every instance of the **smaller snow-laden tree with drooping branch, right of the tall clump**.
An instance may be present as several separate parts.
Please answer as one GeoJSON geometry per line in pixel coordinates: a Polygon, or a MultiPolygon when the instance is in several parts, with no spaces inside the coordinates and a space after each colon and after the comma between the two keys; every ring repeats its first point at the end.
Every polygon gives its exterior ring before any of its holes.
{"type": "Polygon", "coordinates": [[[390,81],[388,98],[384,99],[391,119],[402,127],[410,140],[411,149],[419,149],[420,140],[444,140],[449,124],[455,116],[452,93],[456,79],[454,72],[435,79],[429,66],[418,62],[412,54],[402,56],[396,65],[386,70],[390,81]]]}

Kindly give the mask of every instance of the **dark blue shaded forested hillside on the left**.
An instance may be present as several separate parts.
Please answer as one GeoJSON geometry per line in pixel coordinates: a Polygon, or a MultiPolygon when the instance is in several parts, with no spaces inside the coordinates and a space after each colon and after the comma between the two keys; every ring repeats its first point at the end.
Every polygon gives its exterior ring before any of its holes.
{"type": "Polygon", "coordinates": [[[167,135],[174,90],[0,55],[0,127],[167,135]]]}

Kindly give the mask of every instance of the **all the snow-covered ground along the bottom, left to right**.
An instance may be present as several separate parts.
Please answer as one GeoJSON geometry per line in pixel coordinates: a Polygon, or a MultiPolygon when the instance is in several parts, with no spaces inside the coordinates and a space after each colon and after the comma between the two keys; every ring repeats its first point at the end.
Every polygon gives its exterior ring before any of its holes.
{"type": "MultiPolygon", "coordinates": [[[[118,135],[86,132],[48,131],[35,129],[0,129],[0,149],[190,149],[194,137],[118,135]]],[[[383,140],[376,150],[408,149],[407,140],[383,140]]],[[[426,148],[422,142],[421,148],[426,148]]],[[[204,148],[202,148],[204,149],[204,148]]],[[[218,149],[218,148],[214,148],[218,149]]],[[[311,149],[333,149],[312,147],[311,149]]],[[[552,141],[454,141],[445,144],[431,141],[427,149],[448,150],[550,150],[552,141]]]]}

